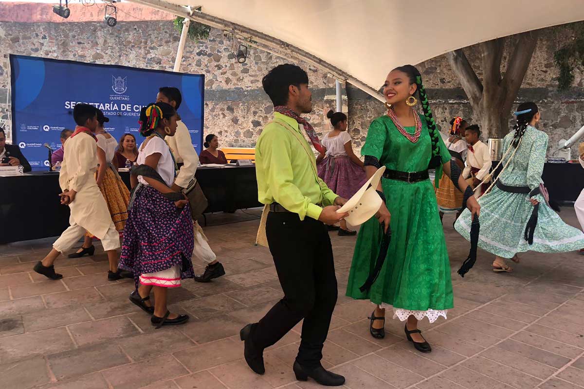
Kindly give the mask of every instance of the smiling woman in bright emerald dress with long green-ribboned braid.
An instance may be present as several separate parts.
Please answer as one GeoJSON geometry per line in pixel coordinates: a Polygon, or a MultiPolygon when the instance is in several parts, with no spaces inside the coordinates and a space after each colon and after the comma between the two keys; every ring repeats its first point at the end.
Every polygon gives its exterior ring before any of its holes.
{"type": "Polygon", "coordinates": [[[473,215],[478,215],[479,205],[471,189],[467,191],[460,168],[450,163],[450,152],[436,129],[418,69],[405,65],[392,70],[383,94],[388,113],[371,123],[361,155],[365,156],[368,178],[378,167],[386,167],[377,188],[385,204],[375,216],[378,220],[371,218],[361,226],[347,296],[377,304],[370,317],[374,338],[385,336],[385,309],[393,309],[394,318],[407,320],[408,340],[418,351],[430,352],[432,348],[418,330],[418,321],[425,316],[430,323],[439,316],[446,318],[446,311],[453,307],[453,294],[446,242],[428,169],[436,169],[436,181],[444,171],[466,192],[473,215]],[[422,104],[421,119],[413,108],[417,102],[414,95],[422,104]],[[384,236],[380,223],[390,225],[391,241],[377,278],[370,288],[363,288],[376,267],[384,236]]]}

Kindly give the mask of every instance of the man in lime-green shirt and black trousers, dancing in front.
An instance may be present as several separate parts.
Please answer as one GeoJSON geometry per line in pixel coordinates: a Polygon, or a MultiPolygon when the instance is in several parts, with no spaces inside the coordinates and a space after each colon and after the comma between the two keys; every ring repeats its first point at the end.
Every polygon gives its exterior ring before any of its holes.
{"type": "Polygon", "coordinates": [[[318,178],[314,152],[304,137],[306,132],[312,145],[322,148],[310,123],[300,117],[312,111],[307,73],[296,65],[279,65],[267,73],[262,86],[274,104],[274,120],[263,129],[256,145],[258,198],[270,207],[266,237],[284,298],[259,323],[241,330],[245,360],[254,372],[263,374],[263,350],[304,319],[294,362],[296,378],[305,381],[311,377],[325,386],[340,386],[345,378],[321,365],[337,297],[325,225],[347,216],[336,212],[346,199],[318,178]]]}

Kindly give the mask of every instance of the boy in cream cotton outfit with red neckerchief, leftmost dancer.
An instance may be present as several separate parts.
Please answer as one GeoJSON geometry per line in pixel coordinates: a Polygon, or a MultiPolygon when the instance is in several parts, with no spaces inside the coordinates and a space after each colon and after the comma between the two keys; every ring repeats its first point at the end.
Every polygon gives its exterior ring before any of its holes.
{"type": "Polygon", "coordinates": [[[77,104],[73,108],[73,118],[77,127],[65,142],[65,154],[59,172],[59,185],[63,191],[60,194],[61,204],[68,205],[71,210],[70,226],[55,240],[53,250],[42,261],[37,262],[33,270],[50,279],[62,278],[61,274],[55,272],[55,260],[88,231],[102,241],[110,265],[107,278],[114,281],[118,279],[112,275],[118,273],[119,256],[116,249],[120,247],[120,234],[116,231],[106,201],[94,178],[98,169],[98,145],[95,138],[98,117],[95,107],[77,104]]]}

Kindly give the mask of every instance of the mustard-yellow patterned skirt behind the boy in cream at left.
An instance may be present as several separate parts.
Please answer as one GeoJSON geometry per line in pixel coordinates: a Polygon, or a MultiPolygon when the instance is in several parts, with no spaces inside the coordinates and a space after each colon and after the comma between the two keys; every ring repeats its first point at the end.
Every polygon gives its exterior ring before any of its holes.
{"type": "MultiPolygon", "coordinates": [[[[95,172],[95,178],[98,178],[98,172],[95,172]]],[[[116,225],[116,230],[122,232],[128,219],[128,202],[130,201],[130,191],[121,180],[119,174],[108,166],[106,174],[103,177],[102,184],[99,186],[103,198],[106,200],[107,208],[112,216],[112,221],[116,225]]],[[[93,237],[91,233],[87,236],[93,237]]]]}

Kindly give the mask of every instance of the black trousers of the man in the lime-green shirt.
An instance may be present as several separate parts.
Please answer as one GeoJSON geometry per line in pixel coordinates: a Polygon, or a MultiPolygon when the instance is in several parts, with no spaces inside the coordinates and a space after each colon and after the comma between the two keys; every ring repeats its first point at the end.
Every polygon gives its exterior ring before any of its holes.
{"type": "Polygon", "coordinates": [[[337,297],[328,230],[308,216],[300,220],[297,213],[270,212],[266,236],[284,298],[253,326],[253,344],[272,346],[304,318],[296,360],[318,367],[337,297]]]}

